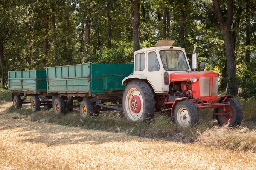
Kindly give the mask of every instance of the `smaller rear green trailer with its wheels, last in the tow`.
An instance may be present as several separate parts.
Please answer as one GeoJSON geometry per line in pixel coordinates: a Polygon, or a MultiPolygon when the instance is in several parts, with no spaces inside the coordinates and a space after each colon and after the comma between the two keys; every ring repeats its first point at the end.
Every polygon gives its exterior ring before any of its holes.
{"type": "Polygon", "coordinates": [[[40,105],[45,108],[51,106],[52,97],[47,95],[46,70],[8,71],[8,90],[14,91],[12,101],[16,109],[26,103],[31,103],[32,111],[38,111],[40,105]],[[31,101],[25,102],[28,96],[32,96],[31,101]]]}

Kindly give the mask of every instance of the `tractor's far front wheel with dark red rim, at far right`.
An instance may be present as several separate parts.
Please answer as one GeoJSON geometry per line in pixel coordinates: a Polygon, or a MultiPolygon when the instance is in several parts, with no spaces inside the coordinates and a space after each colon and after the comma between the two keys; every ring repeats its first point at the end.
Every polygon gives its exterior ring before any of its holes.
{"type": "MultiPolygon", "coordinates": [[[[225,106],[228,116],[217,115],[217,120],[220,125],[229,123],[229,127],[240,125],[243,119],[242,107],[235,99],[229,98],[225,102],[230,102],[230,105],[225,106]]],[[[225,112],[225,113],[226,113],[225,112]]],[[[218,113],[223,113],[223,107],[218,108],[218,113]]]]}

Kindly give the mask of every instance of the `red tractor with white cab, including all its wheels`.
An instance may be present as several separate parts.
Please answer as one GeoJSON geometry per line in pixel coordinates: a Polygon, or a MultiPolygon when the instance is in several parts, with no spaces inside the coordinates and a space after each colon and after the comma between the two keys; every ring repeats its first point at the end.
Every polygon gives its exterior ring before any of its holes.
{"type": "Polygon", "coordinates": [[[196,71],[195,49],[192,71],[184,48],[173,47],[174,42],[162,40],[134,52],[134,71],[122,80],[125,118],[133,122],[151,120],[156,111],[161,111],[176,125],[190,127],[199,121],[199,108],[214,108],[213,119],[220,125],[240,125],[243,113],[239,102],[233,96],[218,99],[218,82],[223,78],[204,71],[204,62],[201,71],[196,71]]]}

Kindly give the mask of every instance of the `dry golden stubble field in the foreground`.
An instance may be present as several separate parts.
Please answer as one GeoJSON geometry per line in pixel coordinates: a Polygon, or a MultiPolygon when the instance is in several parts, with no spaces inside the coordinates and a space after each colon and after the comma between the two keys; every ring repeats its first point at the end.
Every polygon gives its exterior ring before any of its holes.
{"type": "MultiPolygon", "coordinates": [[[[0,169],[255,169],[256,154],[30,121],[0,102],[0,169]]],[[[53,113],[52,113],[53,114],[53,113]]]]}

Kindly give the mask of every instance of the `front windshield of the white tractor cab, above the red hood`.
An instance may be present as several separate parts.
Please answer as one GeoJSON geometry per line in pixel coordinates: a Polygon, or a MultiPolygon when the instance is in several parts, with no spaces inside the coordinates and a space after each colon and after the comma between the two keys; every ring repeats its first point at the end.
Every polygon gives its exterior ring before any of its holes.
{"type": "Polygon", "coordinates": [[[188,70],[189,66],[186,61],[185,54],[181,50],[161,50],[160,57],[163,68],[170,70],[188,70]]]}

